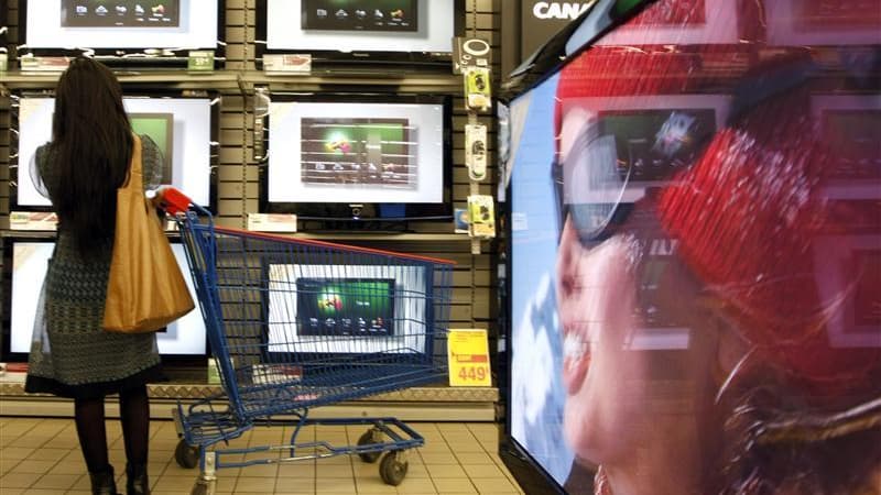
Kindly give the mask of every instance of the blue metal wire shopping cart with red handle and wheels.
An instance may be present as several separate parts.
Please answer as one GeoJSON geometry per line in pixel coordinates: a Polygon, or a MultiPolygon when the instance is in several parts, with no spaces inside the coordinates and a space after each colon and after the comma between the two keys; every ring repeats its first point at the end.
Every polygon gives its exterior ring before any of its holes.
{"type": "Polygon", "coordinates": [[[357,454],[400,484],[423,437],[395,418],[309,418],[309,409],[446,376],[452,262],[216,227],[178,191],[175,215],[222,393],[174,410],[194,494],[217,471],[357,454]],[[221,449],[255,425],[287,425],[289,444],[221,449]],[[363,425],[355,444],[300,441],[309,425],[363,425]],[[244,460],[243,460],[244,459],[244,460]]]}

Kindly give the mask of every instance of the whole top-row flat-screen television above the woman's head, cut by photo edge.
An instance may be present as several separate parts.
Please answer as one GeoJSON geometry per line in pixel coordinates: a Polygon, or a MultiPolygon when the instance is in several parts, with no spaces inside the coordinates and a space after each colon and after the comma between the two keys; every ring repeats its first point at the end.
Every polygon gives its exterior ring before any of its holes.
{"type": "Polygon", "coordinates": [[[225,2],[40,0],[19,2],[19,56],[88,53],[108,65],[185,65],[189,50],[224,58],[225,2]]]}

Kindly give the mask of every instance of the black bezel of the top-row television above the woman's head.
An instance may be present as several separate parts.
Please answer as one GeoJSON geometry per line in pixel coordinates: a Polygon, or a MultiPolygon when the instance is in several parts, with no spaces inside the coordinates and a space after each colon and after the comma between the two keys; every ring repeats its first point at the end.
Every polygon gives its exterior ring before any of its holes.
{"type": "Polygon", "coordinates": [[[150,46],[133,48],[93,48],[84,46],[81,48],[31,48],[26,45],[28,40],[28,0],[19,0],[19,50],[18,57],[31,54],[36,57],[77,57],[93,56],[113,69],[128,68],[155,68],[172,69],[186,67],[188,64],[188,53],[191,50],[213,50],[214,67],[220,69],[226,62],[226,0],[217,0],[217,40],[215,46],[199,48],[156,48],[150,46]],[[159,52],[160,54],[154,54],[159,52]],[[171,55],[165,55],[171,54],[171,55]]]}

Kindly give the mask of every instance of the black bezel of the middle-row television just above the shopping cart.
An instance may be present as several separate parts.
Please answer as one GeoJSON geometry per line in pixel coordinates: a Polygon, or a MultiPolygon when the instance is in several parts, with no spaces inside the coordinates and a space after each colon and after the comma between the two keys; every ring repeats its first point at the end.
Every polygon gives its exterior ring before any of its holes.
{"type": "MultiPolygon", "coordinates": [[[[358,226],[367,226],[367,222],[406,222],[406,221],[423,221],[423,220],[444,220],[449,221],[453,219],[453,98],[449,96],[437,95],[396,95],[396,94],[284,94],[273,92],[270,98],[272,101],[282,102],[327,102],[327,103],[389,103],[389,105],[442,105],[444,108],[444,156],[443,156],[443,201],[442,202],[409,202],[409,204],[392,204],[392,202],[357,202],[362,205],[359,208],[361,215],[355,215],[354,207],[356,202],[284,202],[284,201],[270,201],[269,200],[269,153],[260,164],[260,194],[259,194],[259,208],[264,213],[294,213],[297,220],[304,221],[345,221],[348,227],[357,229],[358,226]],[[381,216],[380,209],[382,206],[391,207],[403,205],[403,216],[381,216]],[[365,210],[374,211],[377,215],[367,216],[365,210]],[[316,213],[318,212],[318,213],[316,213]]],[[[269,120],[269,119],[268,119],[269,120]]],[[[263,125],[264,131],[264,150],[270,150],[271,135],[270,122],[263,125]]]]}

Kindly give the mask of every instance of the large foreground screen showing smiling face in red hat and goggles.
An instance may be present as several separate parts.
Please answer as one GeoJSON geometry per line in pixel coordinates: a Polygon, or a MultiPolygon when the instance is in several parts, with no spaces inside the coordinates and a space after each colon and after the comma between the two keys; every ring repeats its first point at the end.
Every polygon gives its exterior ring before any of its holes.
{"type": "Polygon", "coordinates": [[[879,46],[848,36],[879,18],[802,2],[792,40],[845,35],[828,65],[764,58],[779,20],[725,3],[649,3],[510,101],[500,453],[526,493],[877,491],[879,46]],[[694,29],[721,20],[743,34],[694,29]]]}

